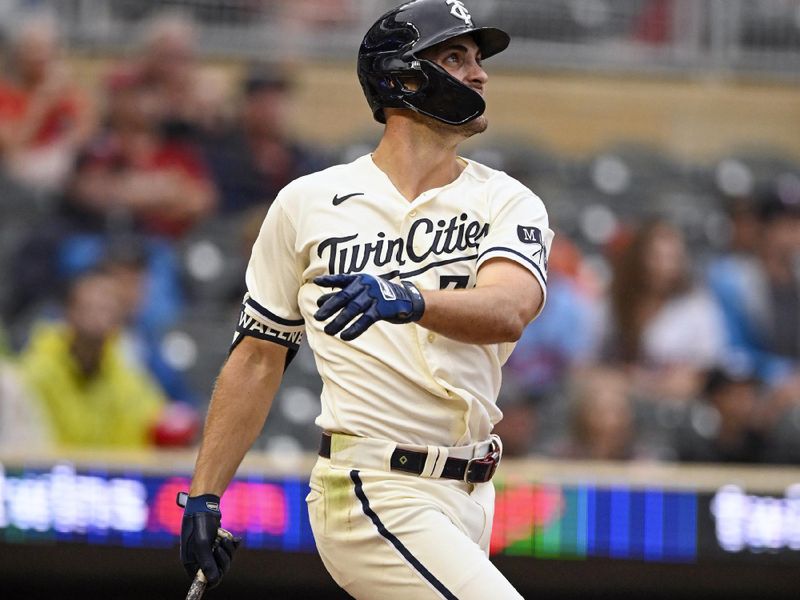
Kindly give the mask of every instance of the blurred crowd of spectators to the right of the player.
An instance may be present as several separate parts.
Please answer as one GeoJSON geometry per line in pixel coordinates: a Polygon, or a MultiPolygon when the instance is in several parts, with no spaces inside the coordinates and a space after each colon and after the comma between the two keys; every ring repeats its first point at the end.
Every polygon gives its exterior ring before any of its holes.
{"type": "Polygon", "coordinates": [[[548,306],[506,368],[511,452],[800,462],[799,191],[734,209],[729,247],[702,265],[667,220],[622,228],[600,286],[559,240],[548,306]]]}

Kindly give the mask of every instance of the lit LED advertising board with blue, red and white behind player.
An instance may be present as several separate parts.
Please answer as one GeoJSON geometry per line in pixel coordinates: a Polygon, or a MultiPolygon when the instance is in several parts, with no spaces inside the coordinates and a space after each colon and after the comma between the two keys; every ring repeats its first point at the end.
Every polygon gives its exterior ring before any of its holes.
{"type": "MultiPolygon", "coordinates": [[[[0,543],[174,546],[181,521],[175,496],[188,486],[186,474],[0,465],[0,543]]],[[[783,495],[732,484],[696,492],[499,479],[496,488],[493,554],[800,564],[800,484],[783,495]]],[[[236,479],[222,499],[225,527],[251,548],[313,552],[307,493],[303,477],[236,479]]]]}

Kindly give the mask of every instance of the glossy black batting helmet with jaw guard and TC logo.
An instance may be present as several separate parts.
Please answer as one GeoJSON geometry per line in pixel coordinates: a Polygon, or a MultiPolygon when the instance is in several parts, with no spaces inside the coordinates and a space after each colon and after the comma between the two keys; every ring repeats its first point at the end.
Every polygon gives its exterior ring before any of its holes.
{"type": "Polygon", "coordinates": [[[483,58],[508,47],[510,37],[495,27],[476,27],[462,0],[414,0],[370,27],[358,51],[358,80],[375,120],[384,108],[408,108],[450,125],[462,125],[486,110],[481,95],[419,54],[451,38],[471,34],[483,58]],[[411,78],[413,89],[404,81],[411,78]]]}

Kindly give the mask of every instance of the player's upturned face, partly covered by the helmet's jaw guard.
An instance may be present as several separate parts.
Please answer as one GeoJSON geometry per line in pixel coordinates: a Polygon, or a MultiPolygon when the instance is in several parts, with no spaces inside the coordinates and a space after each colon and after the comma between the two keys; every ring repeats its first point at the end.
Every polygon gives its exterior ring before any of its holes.
{"type": "MultiPolygon", "coordinates": [[[[471,35],[464,34],[437,44],[426,50],[422,56],[435,62],[452,77],[481,96],[484,95],[489,76],[481,64],[481,50],[471,35]]],[[[469,123],[459,126],[459,129],[465,135],[470,136],[482,133],[486,130],[487,125],[486,116],[481,115],[469,123]]]]}

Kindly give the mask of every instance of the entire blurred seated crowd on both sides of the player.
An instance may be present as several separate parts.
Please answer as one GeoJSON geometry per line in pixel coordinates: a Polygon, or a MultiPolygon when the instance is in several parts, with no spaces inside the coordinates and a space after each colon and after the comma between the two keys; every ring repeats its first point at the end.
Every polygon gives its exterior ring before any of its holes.
{"type": "MultiPolygon", "coordinates": [[[[280,65],[209,81],[178,17],[153,20],[91,89],[46,17],[6,40],[2,64],[0,447],[194,444],[219,362],[189,367],[227,348],[172,333],[230,334],[272,199],[361,147],[292,137],[280,65]]],[[[505,369],[507,453],[800,462],[800,176],[720,192],[717,247],[643,211],[590,252],[523,170],[557,237],[547,306],[505,369]]],[[[290,386],[267,430],[310,423],[316,385],[290,386]]]]}

